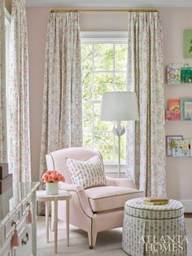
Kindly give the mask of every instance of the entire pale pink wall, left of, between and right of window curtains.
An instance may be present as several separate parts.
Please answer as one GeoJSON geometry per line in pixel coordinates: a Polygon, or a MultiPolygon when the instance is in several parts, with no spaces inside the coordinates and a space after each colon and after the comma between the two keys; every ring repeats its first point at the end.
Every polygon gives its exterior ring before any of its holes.
{"type": "MultiPolygon", "coordinates": [[[[50,7],[27,7],[30,121],[32,143],[33,180],[38,179],[41,139],[41,109],[43,96],[43,73],[46,45],[46,25],[50,7]]],[[[183,63],[192,60],[182,58],[182,30],[192,27],[192,8],[160,8],[164,29],[164,66],[168,63],[183,63]]],[[[81,13],[81,31],[126,30],[126,13],[81,13]]],[[[165,85],[165,98],[192,97],[192,86],[165,85]]],[[[192,138],[192,123],[186,121],[167,122],[167,135],[184,135],[192,138]]],[[[192,197],[192,157],[167,158],[168,196],[190,200],[192,197]]]]}

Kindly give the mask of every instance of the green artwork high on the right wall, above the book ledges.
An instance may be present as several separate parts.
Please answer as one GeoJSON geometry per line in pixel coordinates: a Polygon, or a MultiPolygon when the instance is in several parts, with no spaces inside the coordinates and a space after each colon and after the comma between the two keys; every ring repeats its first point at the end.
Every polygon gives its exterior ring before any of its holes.
{"type": "Polygon", "coordinates": [[[183,57],[192,58],[192,29],[183,30],[183,57]]]}

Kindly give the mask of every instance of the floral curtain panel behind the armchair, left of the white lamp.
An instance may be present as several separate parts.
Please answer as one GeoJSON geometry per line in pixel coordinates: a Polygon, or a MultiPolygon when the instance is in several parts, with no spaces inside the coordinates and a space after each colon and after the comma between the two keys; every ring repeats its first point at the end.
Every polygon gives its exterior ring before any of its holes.
{"type": "Polygon", "coordinates": [[[40,180],[46,154],[82,145],[81,38],[76,12],[50,13],[41,128],[40,180]]]}

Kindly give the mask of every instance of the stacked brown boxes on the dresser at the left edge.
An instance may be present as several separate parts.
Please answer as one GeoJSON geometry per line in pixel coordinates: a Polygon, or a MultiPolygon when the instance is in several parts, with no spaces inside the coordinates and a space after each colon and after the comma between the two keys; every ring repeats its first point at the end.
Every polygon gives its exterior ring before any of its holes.
{"type": "Polygon", "coordinates": [[[12,174],[9,174],[7,163],[0,164],[0,194],[12,187],[12,174]]]}

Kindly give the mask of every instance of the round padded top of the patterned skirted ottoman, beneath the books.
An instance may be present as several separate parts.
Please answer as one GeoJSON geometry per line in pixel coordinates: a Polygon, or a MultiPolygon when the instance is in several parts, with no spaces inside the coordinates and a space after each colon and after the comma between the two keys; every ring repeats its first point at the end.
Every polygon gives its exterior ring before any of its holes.
{"type": "Polygon", "coordinates": [[[167,205],[145,205],[143,198],[125,202],[124,213],[132,217],[147,219],[179,218],[184,214],[184,205],[180,201],[169,200],[167,205]]]}

